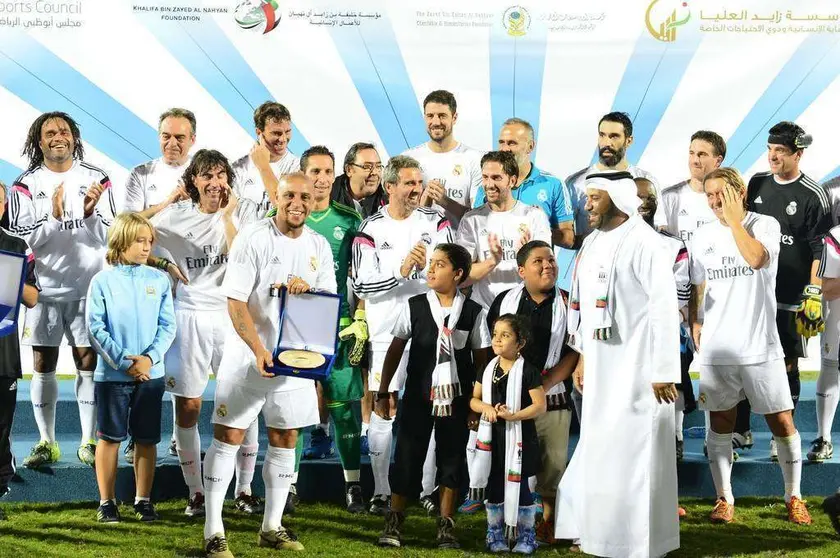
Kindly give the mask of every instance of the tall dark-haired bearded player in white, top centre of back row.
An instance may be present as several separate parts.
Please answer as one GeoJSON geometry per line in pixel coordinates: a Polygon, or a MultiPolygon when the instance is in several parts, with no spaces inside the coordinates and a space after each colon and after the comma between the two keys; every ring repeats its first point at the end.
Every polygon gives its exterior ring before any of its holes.
{"type": "Polygon", "coordinates": [[[453,227],[473,206],[481,187],[481,153],[457,141],[453,135],[458,121],[455,95],[432,91],[423,100],[423,118],[429,141],[404,153],[420,161],[426,190],[423,205],[442,208],[453,227]]]}

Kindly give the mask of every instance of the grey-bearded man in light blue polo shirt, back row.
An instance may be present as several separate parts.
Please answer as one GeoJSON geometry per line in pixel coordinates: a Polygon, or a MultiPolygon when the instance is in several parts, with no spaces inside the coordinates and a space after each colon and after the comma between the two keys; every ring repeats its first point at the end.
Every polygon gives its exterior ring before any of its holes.
{"type": "MultiPolygon", "coordinates": [[[[551,225],[552,243],[571,248],[575,241],[572,197],[560,179],[531,162],[531,154],[537,146],[534,127],[521,118],[508,118],[499,131],[498,144],[499,151],[513,153],[519,168],[519,176],[511,190],[513,197],[541,208],[551,225]]],[[[481,206],[485,200],[485,191],[479,188],[474,206],[481,206]]]]}

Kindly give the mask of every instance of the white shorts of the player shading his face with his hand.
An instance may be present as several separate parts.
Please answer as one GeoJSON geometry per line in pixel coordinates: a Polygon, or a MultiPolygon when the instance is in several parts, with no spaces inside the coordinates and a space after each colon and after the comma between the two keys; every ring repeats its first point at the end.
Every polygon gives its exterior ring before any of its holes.
{"type": "Polygon", "coordinates": [[[754,413],[769,415],[793,409],[782,358],[758,364],[701,364],[700,408],[728,411],[749,399],[754,413]]]}

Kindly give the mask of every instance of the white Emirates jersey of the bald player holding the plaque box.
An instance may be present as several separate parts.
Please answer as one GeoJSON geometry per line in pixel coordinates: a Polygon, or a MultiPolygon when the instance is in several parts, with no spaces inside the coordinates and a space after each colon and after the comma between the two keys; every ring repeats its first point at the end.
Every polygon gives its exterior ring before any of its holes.
{"type": "MultiPolygon", "coordinates": [[[[288,283],[292,277],[303,279],[314,290],[336,292],[332,250],[323,236],[304,227],[299,237],[290,238],[280,232],[274,219],[246,225],[236,235],[222,294],[248,303],[260,341],[270,352],[280,337],[280,298],[271,296],[271,287],[288,283]]],[[[305,378],[261,376],[254,353],[232,329],[219,371],[225,378],[257,389],[272,386],[275,391],[291,391],[312,385],[305,378]]]]}

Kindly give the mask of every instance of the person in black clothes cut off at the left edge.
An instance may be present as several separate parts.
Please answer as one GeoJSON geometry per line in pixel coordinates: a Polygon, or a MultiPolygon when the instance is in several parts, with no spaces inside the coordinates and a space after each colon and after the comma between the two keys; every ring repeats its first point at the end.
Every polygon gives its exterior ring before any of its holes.
{"type": "MultiPolygon", "coordinates": [[[[0,182],[0,220],[6,212],[6,185],[0,182]]],[[[26,256],[23,296],[21,302],[27,308],[38,303],[38,277],[35,274],[35,256],[25,240],[12,236],[0,229],[0,250],[26,256]]],[[[8,281],[14,287],[18,282],[8,281]]],[[[3,318],[5,316],[0,316],[3,318]]],[[[17,327],[5,336],[0,336],[0,498],[9,491],[9,481],[15,476],[15,456],[12,454],[12,420],[15,416],[17,381],[23,376],[20,365],[20,342],[17,327]]],[[[5,514],[0,509],[0,519],[5,514]]]]}

